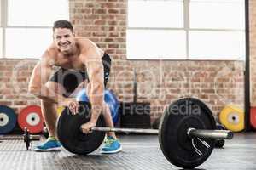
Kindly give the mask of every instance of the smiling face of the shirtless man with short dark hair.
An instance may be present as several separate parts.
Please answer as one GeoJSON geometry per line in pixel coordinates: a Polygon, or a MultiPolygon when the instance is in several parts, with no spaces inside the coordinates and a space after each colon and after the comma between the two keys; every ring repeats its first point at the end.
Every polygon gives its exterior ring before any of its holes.
{"type": "Polygon", "coordinates": [[[54,41],[56,46],[60,49],[62,54],[72,53],[75,45],[75,38],[73,32],[67,28],[55,28],[54,41]]]}

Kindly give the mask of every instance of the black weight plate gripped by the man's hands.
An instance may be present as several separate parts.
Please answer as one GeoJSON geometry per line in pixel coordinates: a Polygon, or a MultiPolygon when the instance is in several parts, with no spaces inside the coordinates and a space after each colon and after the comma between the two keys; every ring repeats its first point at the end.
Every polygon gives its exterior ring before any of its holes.
{"type": "MultiPolygon", "coordinates": [[[[87,155],[96,150],[105,137],[104,132],[93,132],[84,134],[80,126],[90,120],[90,104],[79,102],[79,113],[72,115],[68,108],[65,108],[58,120],[57,134],[63,147],[79,155],[87,155]]],[[[104,127],[103,116],[99,116],[96,127],[104,127]]]]}

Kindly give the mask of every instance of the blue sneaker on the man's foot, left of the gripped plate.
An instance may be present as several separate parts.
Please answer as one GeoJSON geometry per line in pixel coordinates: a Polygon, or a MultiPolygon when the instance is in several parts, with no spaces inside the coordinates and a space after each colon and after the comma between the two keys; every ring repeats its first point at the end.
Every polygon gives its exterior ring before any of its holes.
{"type": "Polygon", "coordinates": [[[49,137],[43,144],[34,147],[35,151],[56,151],[61,150],[61,143],[55,138],[49,137]]]}

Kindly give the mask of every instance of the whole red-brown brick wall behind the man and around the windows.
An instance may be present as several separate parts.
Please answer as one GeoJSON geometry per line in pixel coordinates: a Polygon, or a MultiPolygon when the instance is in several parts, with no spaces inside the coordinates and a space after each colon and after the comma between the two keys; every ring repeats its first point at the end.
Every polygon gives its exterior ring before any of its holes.
{"type": "MultiPolygon", "coordinates": [[[[127,60],[125,14],[125,0],[70,0],[70,19],[77,36],[89,37],[113,57],[108,88],[119,100],[132,101],[136,69],[138,101],[151,103],[152,121],[165,105],[184,96],[202,99],[216,117],[226,104],[243,107],[242,62],[127,60]]],[[[9,105],[19,112],[26,105],[39,104],[26,92],[36,62],[37,59],[0,60],[0,105],[9,105]]]]}

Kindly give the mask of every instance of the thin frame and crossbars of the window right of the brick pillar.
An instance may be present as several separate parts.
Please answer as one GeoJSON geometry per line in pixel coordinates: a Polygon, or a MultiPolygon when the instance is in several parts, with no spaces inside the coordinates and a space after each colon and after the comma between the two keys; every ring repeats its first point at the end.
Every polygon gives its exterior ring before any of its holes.
{"type": "MultiPolygon", "coordinates": [[[[129,2],[127,2],[129,3],[129,2]]],[[[244,35],[246,36],[246,28],[244,29],[221,29],[221,28],[190,28],[189,23],[190,23],[190,16],[189,16],[189,4],[190,0],[183,0],[183,27],[131,27],[127,24],[126,27],[126,31],[128,30],[168,30],[168,31],[178,31],[178,30],[183,30],[185,31],[186,34],[186,56],[183,56],[183,59],[176,59],[175,57],[173,57],[172,59],[161,59],[161,60],[236,60],[235,56],[230,57],[230,59],[210,59],[206,57],[206,59],[194,59],[193,56],[190,56],[189,54],[189,31],[240,31],[240,32],[244,32],[244,35]]],[[[129,5],[127,5],[128,8],[129,5]]],[[[128,14],[129,10],[127,9],[127,17],[126,17],[126,23],[129,23],[129,17],[128,14]]],[[[245,16],[244,16],[245,17],[245,16]]],[[[126,42],[127,43],[127,42],[126,42]]],[[[244,46],[246,47],[246,41],[244,46]]],[[[126,48],[127,51],[127,48],[126,48]]],[[[243,59],[238,59],[238,60],[245,60],[246,59],[246,51],[244,51],[244,58],[243,59]]],[[[127,53],[126,53],[127,54],[127,53]]],[[[138,59],[134,59],[134,58],[129,58],[129,56],[126,57],[128,60],[142,60],[143,58],[138,58],[138,59]]],[[[145,58],[146,59],[146,58],[145,58]]],[[[155,60],[155,59],[149,59],[149,60],[155,60]]]]}

